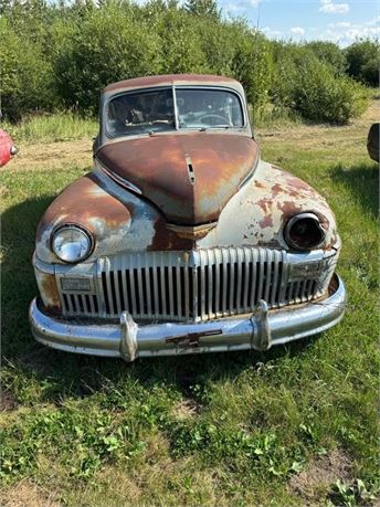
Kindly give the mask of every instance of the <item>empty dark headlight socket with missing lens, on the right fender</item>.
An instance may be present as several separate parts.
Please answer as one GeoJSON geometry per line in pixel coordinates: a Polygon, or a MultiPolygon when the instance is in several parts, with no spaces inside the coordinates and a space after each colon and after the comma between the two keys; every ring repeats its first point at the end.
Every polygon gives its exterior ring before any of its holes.
{"type": "Polygon", "coordinates": [[[285,225],[286,243],[296,250],[313,250],[325,240],[325,231],[314,213],[299,213],[285,225]]]}

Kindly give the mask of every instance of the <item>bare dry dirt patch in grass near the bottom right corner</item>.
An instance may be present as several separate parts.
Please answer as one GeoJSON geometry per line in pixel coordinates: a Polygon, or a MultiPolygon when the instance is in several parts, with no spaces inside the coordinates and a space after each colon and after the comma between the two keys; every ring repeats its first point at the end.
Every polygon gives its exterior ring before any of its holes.
{"type": "Polygon", "coordinates": [[[352,461],[341,451],[332,451],[294,475],[288,485],[293,493],[308,500],[305,505],[313,505],[313,499],[320,497],[323,492],[327,494],[338,479],[342,483],[352,480],[352,461]]]}

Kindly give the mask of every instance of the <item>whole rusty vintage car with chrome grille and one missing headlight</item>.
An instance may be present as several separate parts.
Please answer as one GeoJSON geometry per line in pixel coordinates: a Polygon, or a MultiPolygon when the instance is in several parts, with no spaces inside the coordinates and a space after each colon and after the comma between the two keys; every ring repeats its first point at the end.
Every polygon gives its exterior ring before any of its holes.
{"type": "Polygon", "coordinates": [[[36,340],[133,361],[266,350],[340,320],[334,214],[261,160],[240,83],[134,78],[99,110],[93,170],[38,229],[36,340]]]}

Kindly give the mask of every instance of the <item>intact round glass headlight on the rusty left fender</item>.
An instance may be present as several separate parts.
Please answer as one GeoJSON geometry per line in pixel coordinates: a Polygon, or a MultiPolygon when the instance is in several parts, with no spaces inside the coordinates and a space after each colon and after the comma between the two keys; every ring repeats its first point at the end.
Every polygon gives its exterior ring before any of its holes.
{"type": "Polygon", "coordinates": [[[53,252],[64,262],[75,263],[88,257],[93,244],[89,232],[76,225],[63,225],[52,236],[53,252]]]}

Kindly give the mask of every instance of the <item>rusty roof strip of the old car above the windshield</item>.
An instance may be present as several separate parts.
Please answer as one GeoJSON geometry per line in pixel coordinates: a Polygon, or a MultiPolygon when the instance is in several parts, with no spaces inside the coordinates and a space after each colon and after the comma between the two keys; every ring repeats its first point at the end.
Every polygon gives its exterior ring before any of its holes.
{"type": "Polygon", "coordinates": [[[108,95],[115,92],[123,92],[128,89],[173,85],[228,86],[241,93],[243,92],[242,85],[232,77],[215,76],[211,74],[165,74],[118,81],[117,83],[113,83],[106,86],[103,89],[103,93],[108,95]]]}

